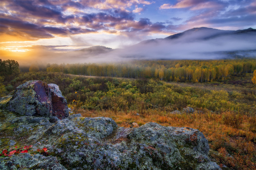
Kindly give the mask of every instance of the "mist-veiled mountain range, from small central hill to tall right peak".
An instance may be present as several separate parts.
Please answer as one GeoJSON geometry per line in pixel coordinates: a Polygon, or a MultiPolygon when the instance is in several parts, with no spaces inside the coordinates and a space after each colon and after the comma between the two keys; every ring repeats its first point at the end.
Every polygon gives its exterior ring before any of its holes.
{"type": "Polygon", "coordinates": [[[163,39],[149,39],[124,49],[93,46],[61,54],[72,62],[122,62],[127,60],[256,58],[256,30],[192,28],[163,39]]]}

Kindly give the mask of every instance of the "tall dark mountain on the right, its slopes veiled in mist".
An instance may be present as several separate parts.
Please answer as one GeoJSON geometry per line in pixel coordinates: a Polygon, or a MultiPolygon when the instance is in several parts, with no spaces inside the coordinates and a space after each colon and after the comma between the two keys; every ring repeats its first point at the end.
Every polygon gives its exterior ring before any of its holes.
{"type": "Polygon", "coordinates": [[[256,30],[193,28],[164,39],[142,41],[126,48],[121,56],[132,59],[256,57],[256,30]]]}

